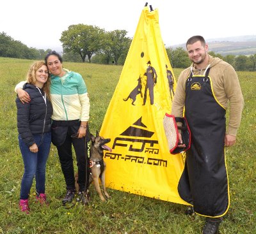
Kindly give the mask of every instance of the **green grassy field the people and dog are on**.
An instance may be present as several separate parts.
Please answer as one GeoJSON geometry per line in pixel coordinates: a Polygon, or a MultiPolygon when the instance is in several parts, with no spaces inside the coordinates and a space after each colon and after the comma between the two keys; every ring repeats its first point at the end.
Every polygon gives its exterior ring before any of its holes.
{"type": "MultiPolygon", "coordinates": [[[[24,80],[32,61],[0,58],[0,233],[171,233],[197,234],[204,225],[200,216],[184,214],[186,207],[109,189],[111,200],[102,203],[92,187],[90,205],[65,209],[61,198],[65,182],[55,147],[47,162],[46,191],[49,207],[35,203],[31,189],[31,214],[18,208],[22,157],[17,140],[15,85],[24,80]]],[[[90,126],[100,130],[122,66],[64,63],[83,75],[90,94],[90,126]]],[[[178,77],[181,69],[174,69],[178,77]]],[[[230,210],[220,226],[221,234],[256,233],[256,72],[239,72],[244,94],[244,111],[235,147],[227,149],[230,181],[230,210]]]]}

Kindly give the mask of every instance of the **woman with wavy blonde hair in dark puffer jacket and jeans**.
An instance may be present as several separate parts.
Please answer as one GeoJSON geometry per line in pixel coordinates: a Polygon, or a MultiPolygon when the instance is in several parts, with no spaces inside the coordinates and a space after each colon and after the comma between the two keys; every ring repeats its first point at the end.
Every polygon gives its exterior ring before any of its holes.
{"type": "Polygon", "coordinates": [[[43,61],[32,64],[24,90],[31,101],[22,104],[16,99],[19,147],[24,162],[24,174],[20,186],[20,210],[29,213],[28,198],[33,178],[36,179],[36,199],[46,202],[45,165],[51,147],[50,78],[43,61]]]}

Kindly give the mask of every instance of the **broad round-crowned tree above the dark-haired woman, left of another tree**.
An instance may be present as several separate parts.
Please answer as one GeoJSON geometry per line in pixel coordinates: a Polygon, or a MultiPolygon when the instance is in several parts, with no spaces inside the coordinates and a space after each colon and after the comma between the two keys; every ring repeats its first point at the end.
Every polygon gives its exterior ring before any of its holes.
{"type": "Polygon", "coordinates": [[[96,26],[71,25],[68,30],[61,34],[60,41],[62,42],[63,52],[79,54],[83,62],[87,55],[88,61],[91,62],[92,55],[102,48],[103,35],[104,29],[96,26]]]}

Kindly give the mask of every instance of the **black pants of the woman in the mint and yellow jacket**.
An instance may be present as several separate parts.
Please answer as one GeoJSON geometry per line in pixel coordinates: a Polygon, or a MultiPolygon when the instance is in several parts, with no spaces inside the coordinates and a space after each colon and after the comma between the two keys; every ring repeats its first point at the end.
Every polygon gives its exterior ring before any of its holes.
{"type": "MultiPolygon", "coordinates": [[[[68,121],[67,121],[68,122],[68,121]]],[[[58,156],[61,163],[61,170],[63,172],[66,188],[67,190],[76,189],[75,187],[75,177],[74,177],[74,164],[72,155],[72,145],[76,153],[76,161],[78,168],[78,179],[77,184],[79,184],[79,191],[83,191],[86,185],[88,188],[89,181],[89,157],[88,157],[88,143],[85,137],[77,138],[71,137],[76,134],[80,123],[71,126],[58,126],[58,128],[66,128],[65,141],[61,145],[57,145],[58,156]],[[87,180],[87,181],[86,181],[87,180]]],[[[87,128],[88,129],[88,128],[87,128]]],[[[89,129],[88,129],[89,130],[89,129]]],[[[87,134],[86,134],[87,135],[87,134]]]]}

